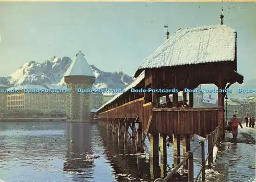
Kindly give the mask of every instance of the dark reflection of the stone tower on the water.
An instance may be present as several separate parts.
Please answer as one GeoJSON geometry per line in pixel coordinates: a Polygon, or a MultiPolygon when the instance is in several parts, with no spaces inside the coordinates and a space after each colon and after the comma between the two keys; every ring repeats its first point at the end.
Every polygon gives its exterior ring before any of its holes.
{"type": "Polygon", "coordinates": [[[93,178],[94,163],[87,161],[92,154],[92,125],[89,123],[67,123],[67,154],[63,171],[73,175],[74,181],[93,178]]]}

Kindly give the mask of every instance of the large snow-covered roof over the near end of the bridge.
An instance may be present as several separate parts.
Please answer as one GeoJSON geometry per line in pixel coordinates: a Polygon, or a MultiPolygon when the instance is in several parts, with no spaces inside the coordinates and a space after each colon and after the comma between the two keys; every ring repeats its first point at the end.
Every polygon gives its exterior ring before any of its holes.
{"type": "Polygon", "coordinates": [[[236,31],[227,25],[179,30],[139,66],[143,69],[178,65],[234,61],[236,31]]]}

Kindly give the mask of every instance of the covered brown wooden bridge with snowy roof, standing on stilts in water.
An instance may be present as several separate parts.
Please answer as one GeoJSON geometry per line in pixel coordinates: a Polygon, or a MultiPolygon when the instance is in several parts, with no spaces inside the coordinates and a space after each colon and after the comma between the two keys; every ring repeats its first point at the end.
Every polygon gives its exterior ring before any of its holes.
{"type": "MultiPolygon", "coordinates": [[[[243,83],[243,76],[237,72],[237,33],[226,25],[179,30],[140,64],[134,76],[136,80],[124,93],[115,95],[97,111],[100,122],[113,133],[117,127],[118,135],[124,133],[126,138],[131,127],[138,146],[148,137],[152,156],[157,159],[159,134],[161,143],[166,143],[167,135],[173,135],[177,156],[180,140],[184,142],[183,151],[190,151],[190,135],[206,137],[220,126],[223,138],[225,89],[243,83]],[[193,108],[193,92],[184,90],[200,84],[218,87],[218,91],[210,91],[218,92],[217,108],[193,108]],[[183,92],[183,102],[188,100],[189,108],[180,108],[178,92],[183,92]],[[170,95],[173,108],[159,108],[159,98],[170,95]]],[[[160,150],[164,158],[166,147],[160,150]]]]}

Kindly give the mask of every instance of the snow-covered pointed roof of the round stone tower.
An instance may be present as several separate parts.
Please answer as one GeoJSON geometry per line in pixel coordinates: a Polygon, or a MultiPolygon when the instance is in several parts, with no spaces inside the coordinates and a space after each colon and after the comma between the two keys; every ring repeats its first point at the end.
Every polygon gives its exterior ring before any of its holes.
{"type": "Polygon", "coordinates": [[[92,68],[81,50],[76,54],[75,60],[73,60],[64,76],[94,76],[92,68]]]}

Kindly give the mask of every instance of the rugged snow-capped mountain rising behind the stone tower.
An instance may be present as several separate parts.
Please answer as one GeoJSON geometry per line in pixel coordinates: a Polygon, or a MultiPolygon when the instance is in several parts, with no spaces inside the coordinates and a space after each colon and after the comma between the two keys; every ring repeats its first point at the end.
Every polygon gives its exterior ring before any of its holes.
{"type": "MultiPolygon", "coordinates": [[[[0,83],[10,85],[63,85],[63,75],[69,68],[72,60],[69,57],[62,59],[53,56],[49,60],[38,63],[28,62],[7,77],[2,77],[0,83]]],[[[96,77],[94,88],[120,89],[133,82],[133,78],[122,71],[104,72],[94,65],[90,65],[96,77]]]]}

